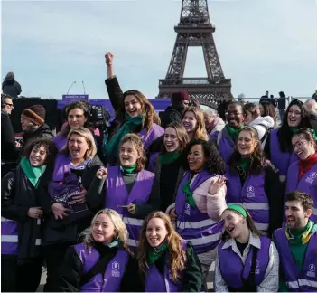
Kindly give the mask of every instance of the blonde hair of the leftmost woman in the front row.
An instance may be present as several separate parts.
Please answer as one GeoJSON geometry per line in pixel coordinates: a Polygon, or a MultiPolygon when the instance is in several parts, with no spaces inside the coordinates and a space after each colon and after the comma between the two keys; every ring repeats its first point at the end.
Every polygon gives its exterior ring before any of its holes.
{"type": "Polygon", "coordinates": [[[86,248],[89,251],[91,251],[91,248],[93,247],[93,242],[95,240],[92,237],[92,226],[94,225],[94,222],[96,222],[100,214],[107,214],[111,222],[114,224],[115,232],[116,232],[114,241],[117,241],[117,240],[121,241],[124,249],[130,252],[127,246],[128,232],[126,229],[126,224],[122,221],[121,216],[115,210],[111,210],[111,209],[103,209],[103,210],[100,210],[98,213],[96,213],[96,215],[91,221],[90,227],[84,230],[83,232],[81,232],[80,236],[84,237],[83,242],[86,248]]]}

